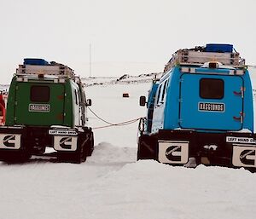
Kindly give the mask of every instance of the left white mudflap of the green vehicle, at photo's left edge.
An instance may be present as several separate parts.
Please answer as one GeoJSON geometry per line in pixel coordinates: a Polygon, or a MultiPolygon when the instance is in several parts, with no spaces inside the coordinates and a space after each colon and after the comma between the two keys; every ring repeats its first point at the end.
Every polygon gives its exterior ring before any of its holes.
{"type": "Polygon", "coordinates": [[[20,149],[20,134],[0,134],[1,149],[20,149]]]}

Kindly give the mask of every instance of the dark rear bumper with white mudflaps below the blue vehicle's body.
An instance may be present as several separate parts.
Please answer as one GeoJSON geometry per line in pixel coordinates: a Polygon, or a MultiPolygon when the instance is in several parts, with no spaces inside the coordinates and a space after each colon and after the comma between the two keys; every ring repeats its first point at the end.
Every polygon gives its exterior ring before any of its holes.
{"type": "Polygon", "coordinates": [[[256,168],[254,139],[250,133],[160,130],[155,135],[142,135],[139,141],[151,147],[160,163],[183,165],[195,158],[196,164],[256,168]]]}

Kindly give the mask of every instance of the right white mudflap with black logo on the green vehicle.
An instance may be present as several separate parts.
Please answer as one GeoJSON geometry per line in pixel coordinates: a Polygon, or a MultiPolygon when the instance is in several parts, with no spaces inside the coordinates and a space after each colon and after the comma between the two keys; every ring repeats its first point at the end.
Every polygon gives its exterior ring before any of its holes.
{"type": "Polygon", "coordinates": [[[78,137],[68,135],[55,135],[54,148],[56,151],[75,151],[77,150],[78,137]]]}

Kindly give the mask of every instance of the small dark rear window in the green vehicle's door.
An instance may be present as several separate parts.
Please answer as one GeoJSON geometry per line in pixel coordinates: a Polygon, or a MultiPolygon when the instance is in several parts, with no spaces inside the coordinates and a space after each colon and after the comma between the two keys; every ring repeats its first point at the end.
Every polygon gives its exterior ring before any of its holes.
{"type": "Polygon", "coordinates": [[[30,100],[32,102],[49,102],[49,87],[32,86],[30,90],[30,100]]]}

